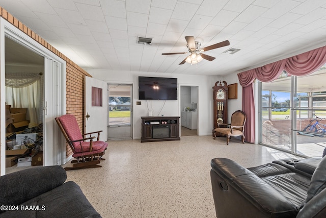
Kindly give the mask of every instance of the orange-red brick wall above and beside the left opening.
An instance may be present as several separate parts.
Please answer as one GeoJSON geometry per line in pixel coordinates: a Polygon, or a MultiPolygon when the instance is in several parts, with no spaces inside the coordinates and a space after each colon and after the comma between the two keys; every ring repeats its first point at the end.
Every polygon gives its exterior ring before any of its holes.
{"type": "MultiPolygon", "coordinates": [[[[32,39],[43,45],[46,49],[56,54],[67,62],[67,114],[74,114],[77,118],[79,128],[84,132],[84,82],[85,75],[91,77],[88,72],[72,62],[69,58],[59,52],[55,47],[47,43],[39,35],[25,26],[17,18],[13,17],[4,8],[0,7],[0,16],[12,23],[13,26],[30,36],[32,39]]],[[[0,136],[1,137],[1,136],[0,136]]],[[[0,138],[1,139],[1,138],[0,138]]],[[[71,149],[67,144],[67,157],[72,154],[71,149]]]]}

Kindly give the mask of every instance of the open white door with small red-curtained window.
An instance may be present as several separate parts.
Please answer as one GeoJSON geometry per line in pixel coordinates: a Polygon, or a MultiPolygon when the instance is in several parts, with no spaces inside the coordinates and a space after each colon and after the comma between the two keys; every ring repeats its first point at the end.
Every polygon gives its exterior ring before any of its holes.
{"type": "Polygon", "coordinates": [[[107,83],[85,76],[85,133],[103,130],[100,140],[106,141],[107,83]]]}

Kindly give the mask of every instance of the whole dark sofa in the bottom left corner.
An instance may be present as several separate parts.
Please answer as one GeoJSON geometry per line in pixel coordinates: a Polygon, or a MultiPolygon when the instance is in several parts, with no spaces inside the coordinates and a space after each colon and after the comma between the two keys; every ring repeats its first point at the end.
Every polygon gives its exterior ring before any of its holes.
{"type": "MultiPolygon", "coordinates": [[[[0,217],[101,217],[61,166],[0,177],[0,217]]],[[[98,190],[94,190],[98,191],[98,190]]]]}

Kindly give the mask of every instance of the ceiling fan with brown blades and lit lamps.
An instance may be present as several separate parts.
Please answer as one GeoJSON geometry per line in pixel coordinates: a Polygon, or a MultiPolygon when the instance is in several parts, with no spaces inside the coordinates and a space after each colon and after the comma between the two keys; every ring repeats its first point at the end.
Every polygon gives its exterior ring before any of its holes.
{"type": "Polygon", "coordinates": [[[176,53],[162,53],[162,55],[180,55],[191,53],[188,57],[186,57],[180,64],[184,64],[185,62],[190,64],[196,64],[203,59],[208,61],[212,61],[215,58],[209,55],[202,54],[200,52],[206,52],[212,49],[218,49],[219,47],[227,46],[230,44],[229,40],[225,40],[223,42],[219,42],[216,44],[209,45],[207,47],[200,48],[200,42],[195,41],[194,36],[185,36],[185,40],[187,41],[188,52],[176,52],[176,53]]]}

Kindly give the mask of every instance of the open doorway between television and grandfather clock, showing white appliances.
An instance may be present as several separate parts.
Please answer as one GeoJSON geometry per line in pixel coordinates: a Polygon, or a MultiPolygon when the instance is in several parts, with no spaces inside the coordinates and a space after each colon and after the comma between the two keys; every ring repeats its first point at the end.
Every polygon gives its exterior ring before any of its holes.
{"type": "Polygon", "coordinates": [[[181,86],[181,126],[197,130],[198,86],[181,86]]]}

